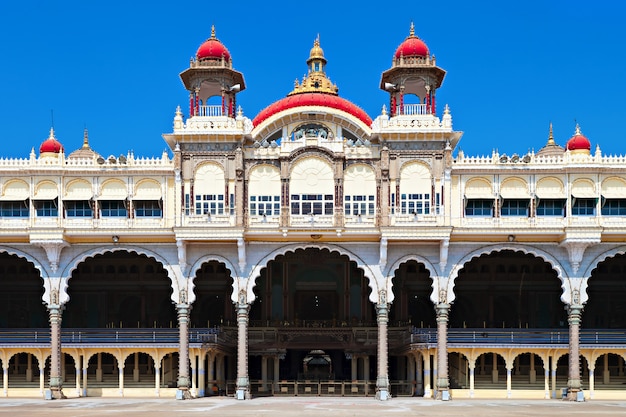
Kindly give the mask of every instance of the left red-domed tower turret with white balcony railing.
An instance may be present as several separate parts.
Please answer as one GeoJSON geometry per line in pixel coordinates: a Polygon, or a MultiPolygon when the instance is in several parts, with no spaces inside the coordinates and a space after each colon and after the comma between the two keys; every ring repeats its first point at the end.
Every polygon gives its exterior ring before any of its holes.
{"type": "Polygon", "coordinates": [[[214,26],[180,78],[189,91],[189,117],[236,117],[236,95],[246,85],[243,74],[233,69],[230,52],[215,36],[214,26]]]}

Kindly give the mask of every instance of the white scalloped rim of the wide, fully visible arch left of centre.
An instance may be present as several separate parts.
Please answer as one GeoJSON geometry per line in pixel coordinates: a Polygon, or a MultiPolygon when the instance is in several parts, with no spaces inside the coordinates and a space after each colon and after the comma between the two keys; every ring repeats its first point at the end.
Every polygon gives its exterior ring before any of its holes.
{"type": "Polygon", "coordinates": [[[78,268],[78,265],[85,262],[88,258],[93,258],[96,255],[104,255],[110,252],[134,252],[138,255],[144,255],[150,259],[161,264],[167,276],[170,279],[170,285],[172,286],[172,295],[171,299],[174,303],[181,302],[180,300],[180,290],[184,289],[187,292],[187,303],[191,304],[194,301],[193,292],[190,292],[186,285],[186,279],[183,276],[178,276],[176,269],[170,265],[167,259],[163,258],[156,252],[153,252],[149,249],[143,248],[141,246],[116,246],[112,247],[98,247],[92,248],[85,252],[82,252],[71,259],[66,265],[65,269],[62,271],[61,277],[62,281],[59,288],[59,304],[65,304],[69,301],[69,293],[67,292],[69,286],[69,280],[72,278],[72,273],[74,270],[78,268]]]}

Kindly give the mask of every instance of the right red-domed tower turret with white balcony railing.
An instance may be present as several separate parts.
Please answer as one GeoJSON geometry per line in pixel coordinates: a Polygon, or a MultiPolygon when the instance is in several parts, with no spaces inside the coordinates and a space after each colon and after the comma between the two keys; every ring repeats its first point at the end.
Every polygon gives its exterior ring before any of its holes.
{"type": "Polygon", "coordinates": [[[409,36],[396,49],[391,68],[380,80],[380,88],[389,92],[390,116],[436,115],[435,93],[445,75],[428,46],[415,36],[411,23],[409,36]]]}

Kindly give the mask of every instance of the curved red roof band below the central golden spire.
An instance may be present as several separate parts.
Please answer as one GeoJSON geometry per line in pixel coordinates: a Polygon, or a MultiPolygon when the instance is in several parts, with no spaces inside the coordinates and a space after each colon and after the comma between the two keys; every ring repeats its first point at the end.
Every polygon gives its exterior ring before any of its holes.
{"type": "Polygon", "coordinates": [[[304,106],[322,106],[341,110],[346,113],[350,113],[367,126],[372,125],[372,119],[359,106],[352,104],[348,100],[339,96],[324,93],[302,93],[287,96],[261,110],[261,112],[252,121],[252,125],[256,127],[264,120],[269,119],[283,110],[304,106]]]}

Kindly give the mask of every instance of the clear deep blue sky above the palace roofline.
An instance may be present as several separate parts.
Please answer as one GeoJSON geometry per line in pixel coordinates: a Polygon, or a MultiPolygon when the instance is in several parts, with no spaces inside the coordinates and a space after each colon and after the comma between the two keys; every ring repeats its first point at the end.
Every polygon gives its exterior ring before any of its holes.
{"type": "Polygon", "coordinates": [[[210,36],[231,52],[249,118],[293,88],[320,35],[339,95],[375,118],[381,73],[409,33],[447,71],[469,155],[538,150],[578,122],[604,154],[626,154],[626,2],[12,1],[0,4],[0,157],[28,157],[52,124],[66,152],[160,156],[188,94],[178,74],[210,36]],[[389,4],[388,8],[386,7],[389,4]]]}

